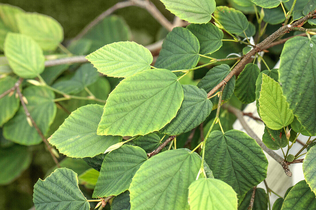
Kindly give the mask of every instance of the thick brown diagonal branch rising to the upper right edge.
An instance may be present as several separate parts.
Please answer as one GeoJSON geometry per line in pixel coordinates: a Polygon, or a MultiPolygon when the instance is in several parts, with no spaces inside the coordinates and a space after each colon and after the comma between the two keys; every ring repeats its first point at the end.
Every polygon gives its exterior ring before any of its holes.
{"type": "Polygon", "coordinates": [[[293,29],[296,26],[299,26],[301,23],[303,23],[304,21],[311,19],[313,17],[316,16],[316,11],[313,11],[312,13],[308,14],[307,16],[301,18],[300,20],[295,21],[294,23],[292,23],[291,25],[286,25],[286,26],[282,26],[281,28],[279,28],[276,32],[274,32],[273,34],[271,34],[268,38],[264,39],[262,42],[260,42],[259,44],[256,44],[256,46],[250,50],[250,52],[248,52],[243,59],[241,59],[241,61],[233,68],[233,70],[219,83],[217,84],[208,94],[207,97],[212,96],[213,94],[215,94],[217,92],[217,90],[219,90],[225,83],[227,83],[234,75],[235,73],[237,73],[239,71],[239,69],[246,64],[246,62],[248,61],[248,59],[251,58],[252,55],[255,55],[256,53],[264,50],[264,47],[270,43],[272,43],[276,38],[280,37],[281,35],[283,35],[284,33],[287,33],[289,31],[291,31],[291,29],[293,29]]]}

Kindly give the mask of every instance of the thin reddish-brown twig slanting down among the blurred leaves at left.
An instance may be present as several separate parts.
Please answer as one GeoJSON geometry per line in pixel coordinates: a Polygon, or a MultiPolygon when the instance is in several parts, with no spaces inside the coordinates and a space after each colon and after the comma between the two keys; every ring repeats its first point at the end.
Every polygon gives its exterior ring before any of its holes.
{"type": "MultiPolygon", "coordinates": [[[[21,79],[20,79],[20,80],[21,80],[21,79]]],[[[26,104],[25,104],[25,102],[24,102],[24,99],[23,99],[24,96],[23,96],[22,93],[21,93],[20,87],[16,88],[16,92],[17,92],[17,94],[18,94],[18,96],[19,96],[19,98],[20,98],[20,101],[21,101],[21,104],[22,104],[22,107],[23,107],[23,109],[24,109],[24,112],[25,112],[26,117],[31,121],[33,127],[36,129],[37,133],[40,135],[41,139],[42,139],[43,142],[46,144],[46,147],[47,147],[49,153],[52,155],[52,158],[54,159],[54,161],[55,161],[57,167],[60,168],[60,165],[59,165],[59,163],[58,163],[58,160],[57,160],[56,156],[54,155],[54,153],[52,152],[52,149],[53,149],[52,146],[48,143],[48,141],[47,141],[47,139],[45,138],[44,134],[42,133],[42,131],[40,130],[40,128],[37,126],[37,124],[35,123],[33,117],[31,116],[30,112],[29,112],[28,109],[27,109],[27,106],[26,106],[26,104]]]]}

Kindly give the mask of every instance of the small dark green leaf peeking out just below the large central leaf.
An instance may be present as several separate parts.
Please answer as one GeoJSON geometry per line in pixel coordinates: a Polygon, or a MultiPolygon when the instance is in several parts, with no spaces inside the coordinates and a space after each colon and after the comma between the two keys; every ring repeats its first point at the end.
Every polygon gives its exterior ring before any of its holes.
{"type": "Polygon", "coordinates": [[[141,147],[146,153],[150,153],[157,149],[162,142],[160,142],[160,137],[155,133],[149,133],[145,136],[139,136],[133,140],[136,146],[141,147]]]}

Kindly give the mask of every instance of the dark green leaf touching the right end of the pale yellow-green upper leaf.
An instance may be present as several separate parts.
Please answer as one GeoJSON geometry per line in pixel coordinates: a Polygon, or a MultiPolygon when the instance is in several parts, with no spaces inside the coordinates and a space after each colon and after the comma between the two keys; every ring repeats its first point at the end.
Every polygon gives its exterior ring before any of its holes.
{"type": "Polygon", "coordinates": [[[196,36],[188,29],[175,27],[163,41],[155,67],[171,71],[193,68],[200,60],[199,51],[196,36]]]}

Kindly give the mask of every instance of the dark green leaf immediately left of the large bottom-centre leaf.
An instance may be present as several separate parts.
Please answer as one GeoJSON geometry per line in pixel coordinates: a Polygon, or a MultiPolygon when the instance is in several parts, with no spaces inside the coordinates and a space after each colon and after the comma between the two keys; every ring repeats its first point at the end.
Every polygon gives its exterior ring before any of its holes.
{"type": "Polygon", "coordinates": [[[128,190],[134,174],[145,160],[146,152],[131,145],[123,145],[107,154],[92,197],[119,195],[128,190]]]}

